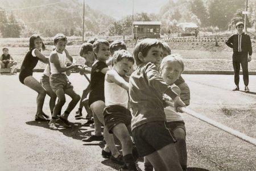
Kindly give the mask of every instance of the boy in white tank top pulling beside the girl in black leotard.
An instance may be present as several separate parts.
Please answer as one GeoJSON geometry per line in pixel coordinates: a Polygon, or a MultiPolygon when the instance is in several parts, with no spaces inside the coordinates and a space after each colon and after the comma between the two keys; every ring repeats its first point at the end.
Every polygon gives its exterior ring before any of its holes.
{"type": "Polygon", "coordinates": [[[52,51],[49,62],[51,67],[51,76],[50,76],[50,85],[53,92],[57,95],[58,101],[53,109],[52,119],[49,122],[49,128],[51,130],[57,130],[55,126],[57,115],[60,114],[63,105],[65,104],[65,94],[69,95],[72,98],[72,101],[68,104],[67,109],[64,111],[64,114],[59,116],[59,120],[63,122],[65,127],[71,127],[71,124],[68,121],[69,113],[74,109],[76,104],[80,100],[80,96],[76,94],[73,90],[71,82],[68,80],[65,72],[70,69],[78,69],[78,65],[72,64],[66,66],[66,57],[73,62],[72,56],[70,56],[68,51],[65,51],[67,45],[67,37],[63,34],[57,34],[54,38],[54,45],[56,49],[52,51]]]}

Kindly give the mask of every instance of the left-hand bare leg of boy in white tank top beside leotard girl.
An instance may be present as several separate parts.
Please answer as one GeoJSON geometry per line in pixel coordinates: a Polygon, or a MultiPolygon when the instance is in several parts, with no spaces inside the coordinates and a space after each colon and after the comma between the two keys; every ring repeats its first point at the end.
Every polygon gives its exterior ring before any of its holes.
{"type": "Polygon", "coordinates": [[[55,91],[55,94],[58,97],[58,101],[53,109],[52,118],[57,118],[57,115],[60,114],[61,109],[66,102],[65,93],[63,89],[57,89],[55,91]]]}

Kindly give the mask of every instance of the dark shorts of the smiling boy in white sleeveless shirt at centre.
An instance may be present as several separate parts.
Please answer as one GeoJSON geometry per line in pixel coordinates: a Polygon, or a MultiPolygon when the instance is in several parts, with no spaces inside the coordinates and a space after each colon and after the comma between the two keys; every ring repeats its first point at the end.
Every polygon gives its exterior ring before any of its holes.
{"type": "Polygon", "coordinates": [[[112,129],[118,123],[124,123],[126,127],[131,124],[131,112],[122,106],[113,105],[105,107],[103,117],[104,125],[108,128],[110,134],[113,134],[112,129]]]}

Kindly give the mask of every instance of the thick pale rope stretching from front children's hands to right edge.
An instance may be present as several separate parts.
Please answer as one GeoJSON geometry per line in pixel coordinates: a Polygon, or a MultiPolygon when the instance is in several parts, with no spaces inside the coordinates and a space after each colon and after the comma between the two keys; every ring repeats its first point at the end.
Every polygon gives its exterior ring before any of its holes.
{"type": "Polygon", "coordinates": [[[227,127],[224,124],[221,124],[219,122],[216,122],[215,120],[207,118],[206,116],[199,114],[191,109],[188,109],[187,107],[179,107],[179,110],[256,146],[256,139],[254,139],[253,137],[247,136],[239,131],[233,130],[232,128],[227,127]]]}

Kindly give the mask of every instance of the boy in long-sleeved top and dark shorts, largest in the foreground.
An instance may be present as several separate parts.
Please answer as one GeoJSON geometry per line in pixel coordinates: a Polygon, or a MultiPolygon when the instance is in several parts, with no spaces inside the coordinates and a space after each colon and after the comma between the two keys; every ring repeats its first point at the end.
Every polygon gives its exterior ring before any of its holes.
{"type": "Polygon", "coordinates": [[[163,93],[185,106],[158,72],[163,44],[157,39],[144,39],[134,48],[137,69],[131,74],[129,95],[133,119],[131,130],[140,157],[146,156],[155,170],[182,170],[175,148],[175,136],[166,127],[163,93]],[[170,155],[171,154],[171,155],[170,155]]]}

